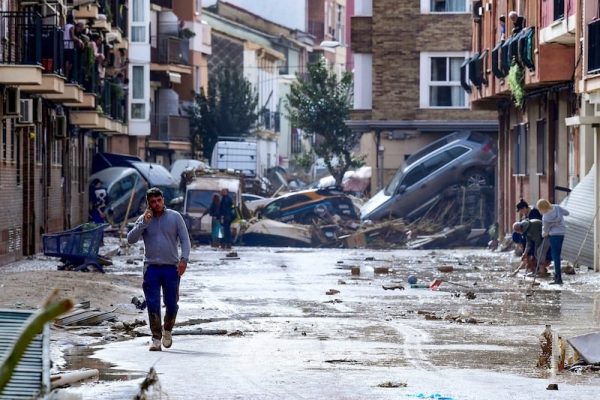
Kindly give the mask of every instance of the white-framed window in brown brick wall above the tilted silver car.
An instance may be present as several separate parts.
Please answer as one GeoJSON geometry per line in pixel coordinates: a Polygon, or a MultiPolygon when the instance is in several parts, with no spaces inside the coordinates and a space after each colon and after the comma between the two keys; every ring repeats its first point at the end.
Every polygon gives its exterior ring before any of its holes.
{"type": "Polygon", "coordinates": [[[467,96],[460,83],[464,53],[421,53],[421,108],[466,108],[467,96]]]}

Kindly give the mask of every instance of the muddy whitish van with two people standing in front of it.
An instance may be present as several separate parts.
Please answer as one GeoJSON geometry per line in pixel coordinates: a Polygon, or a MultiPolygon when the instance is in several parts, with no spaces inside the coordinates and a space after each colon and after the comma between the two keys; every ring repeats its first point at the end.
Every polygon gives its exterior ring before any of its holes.
{"type": "MultiPolygon", "coordinates": [[[[227,188],[233,204],[238,210],[242,209],[242,184],[238,177],[232,175],[202,175],[197,176],[187,184],[183,202],[183,217],[186,221],[190,236],[200,242],[210,240],[212,231],[212,218],[206,214],[200,218],[210,207],[213,194],[220,195],[221,189],[227,188]]],[[[239,221],[231,224],[232,238],[235,241],[239,232],[239,221]]]]}

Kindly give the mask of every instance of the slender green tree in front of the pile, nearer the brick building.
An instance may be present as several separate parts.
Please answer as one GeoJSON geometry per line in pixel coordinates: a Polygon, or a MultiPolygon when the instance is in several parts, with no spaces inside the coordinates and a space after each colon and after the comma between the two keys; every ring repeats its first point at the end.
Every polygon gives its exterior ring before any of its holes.
{"type": "Polygon", "coordinates": [[[359,135],[345,122],[350,117],[351,99],[352,75],[344,72],[338,79],[323,58],[308,65],[304,78],[297,76],[286,96],[290,122],[305,134],[315,136],[313,151],[323,158],[338,186],[346,171],[361,164],[352,154],[359,135]]]}

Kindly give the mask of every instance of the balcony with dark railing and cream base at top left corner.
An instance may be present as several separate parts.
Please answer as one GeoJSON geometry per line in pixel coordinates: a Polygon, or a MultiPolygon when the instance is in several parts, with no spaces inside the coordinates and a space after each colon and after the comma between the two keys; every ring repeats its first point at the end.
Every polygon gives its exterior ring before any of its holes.
{"type": "Polygon", "coordinates": [[[42,18],[35,12],[0,12],[0,84],[42,84],[42,18]]]}

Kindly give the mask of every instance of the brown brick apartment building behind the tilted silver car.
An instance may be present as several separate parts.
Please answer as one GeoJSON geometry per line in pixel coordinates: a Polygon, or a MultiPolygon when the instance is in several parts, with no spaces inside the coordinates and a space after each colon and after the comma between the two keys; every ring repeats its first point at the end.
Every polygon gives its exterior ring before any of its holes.
{"type": "Polygon", "coordinates": [[[355,0],[354,111],[372,191],[404,160],[456,130],[495,134],[496,113],[471,110],[460,67],[471,57],[469,0],[355,0]]]}

